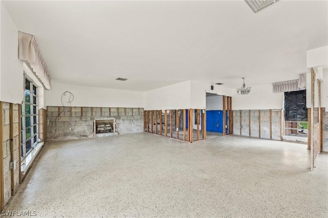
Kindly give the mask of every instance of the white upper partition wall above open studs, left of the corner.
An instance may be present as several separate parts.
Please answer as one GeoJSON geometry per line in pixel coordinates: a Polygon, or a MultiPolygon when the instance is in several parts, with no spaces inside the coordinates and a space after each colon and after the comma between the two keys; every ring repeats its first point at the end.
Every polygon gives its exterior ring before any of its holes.
{"type": "Polygon", "coordinates": [[[190,106],[190,81],[165,86],[144,93],[145,110],[177,110],[190,106]]]}

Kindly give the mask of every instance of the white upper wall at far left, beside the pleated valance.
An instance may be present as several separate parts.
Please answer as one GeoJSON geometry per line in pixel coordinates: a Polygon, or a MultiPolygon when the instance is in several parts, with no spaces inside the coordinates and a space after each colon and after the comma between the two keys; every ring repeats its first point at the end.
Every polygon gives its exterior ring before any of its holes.
{"type": "Polygon", "coordinates": [[[0,100],[22,103],[23,62],[18,59],[18,29],[3,2],[1,4],[0,100]]]}

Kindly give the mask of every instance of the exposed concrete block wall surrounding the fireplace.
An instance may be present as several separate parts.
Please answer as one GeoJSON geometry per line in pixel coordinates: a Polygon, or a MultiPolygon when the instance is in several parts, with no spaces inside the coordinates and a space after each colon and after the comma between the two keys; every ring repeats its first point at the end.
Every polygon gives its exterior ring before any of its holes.
{"type": "Polygon", "coordinates": [[[116,119],[118,134],[143,132],[144,108],[47,106],[47,141],[92,138],[93,121],[108,118],[116,119]]]}

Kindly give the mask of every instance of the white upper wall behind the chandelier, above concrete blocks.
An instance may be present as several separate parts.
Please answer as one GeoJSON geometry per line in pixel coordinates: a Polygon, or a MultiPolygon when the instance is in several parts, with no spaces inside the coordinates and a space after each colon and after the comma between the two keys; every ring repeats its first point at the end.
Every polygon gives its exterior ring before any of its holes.
{"type": "Polygon", "coordinates": [[[250,94],[232,97],[233,110],[265,110],[283,107],[283,93],[273,93],[272,84],[253,86],[250,94]]]}

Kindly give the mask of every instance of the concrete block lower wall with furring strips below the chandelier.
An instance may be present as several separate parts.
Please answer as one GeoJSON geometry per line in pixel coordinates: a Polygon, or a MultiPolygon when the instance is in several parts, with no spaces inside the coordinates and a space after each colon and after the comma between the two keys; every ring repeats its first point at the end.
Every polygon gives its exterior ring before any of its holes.
{"type": "Polygon", "coordinates": [[[233,134],[281,140],[281,110],[234,110],[233,134]]]}

